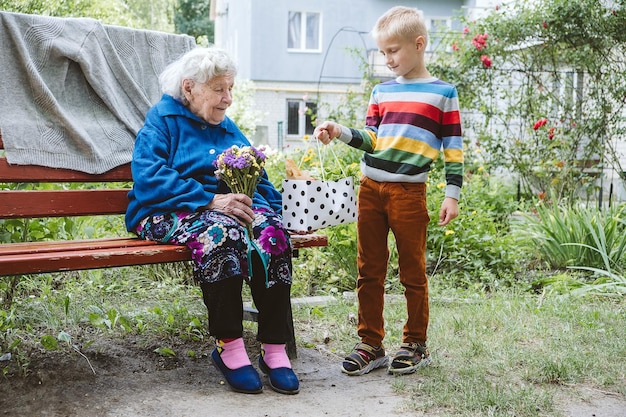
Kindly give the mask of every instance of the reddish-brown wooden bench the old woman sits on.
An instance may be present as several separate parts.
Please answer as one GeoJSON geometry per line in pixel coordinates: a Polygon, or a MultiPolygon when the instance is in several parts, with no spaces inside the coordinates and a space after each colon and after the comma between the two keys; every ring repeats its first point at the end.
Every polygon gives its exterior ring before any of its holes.
{"type": "MultiPolygon", "coordinates": [[[[69,169],[9,165],[5,157],[0,157],[0,220],[121,215],[128,205],[127,193],[130,189],[126,187],[130,183],[130,164],[94,175],[69,169]],[[15,183],[92,183],[96,187],[112,182],[122,183],[124,188],[9,190],[6,187],[15,183]]],[[[328,244],[327,237],[321,234],[294,234],[291,242],[294,256],[298,255],[299,249],[328,244]]],[[[105,239],[0,243],[0,276],[190,260],[191,252],[186,246],[146,241],[128,234],[105,239]]],[[[247,320],[256,321],[256,314],[256,310],[246,308],[247,320]]],[[[287,320],[293,333],[291,312],[287,320]]],[[[288,353],[291,357],[296,356],[295,336],[288,344],[288,353]]]]}

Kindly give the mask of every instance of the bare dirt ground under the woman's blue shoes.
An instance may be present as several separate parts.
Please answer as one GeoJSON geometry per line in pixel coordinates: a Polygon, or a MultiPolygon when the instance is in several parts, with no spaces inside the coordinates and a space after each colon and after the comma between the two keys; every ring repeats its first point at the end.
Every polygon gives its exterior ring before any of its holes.
{"type": "MultiPolygon", "coordinates": [[[[258,347],[247,339],[254,357],[258,347]]],[[[349,377],[340,372],[341,358],[316,348],[299,348],[293,360],[301,383],[298,395],[281,395],[267,385],[261,394],[238,394],[211,364],[207,345],[176,347],[178,352],[194,350],[193,358],[164,358],[132,339],[98,340],[84,352],[89,360],[40,352],[33,355],[26,378],[0,377],[0,416],[423,416],[407,410],[408,398],[394,391],[394,377],[384,370],[349,377]]],[[[402,378],[423,380],[419,373],[402,378]]],[[[590,387],[568,388],[559,404],[566,417],[626,417],[625,398],[590,387]]]]}

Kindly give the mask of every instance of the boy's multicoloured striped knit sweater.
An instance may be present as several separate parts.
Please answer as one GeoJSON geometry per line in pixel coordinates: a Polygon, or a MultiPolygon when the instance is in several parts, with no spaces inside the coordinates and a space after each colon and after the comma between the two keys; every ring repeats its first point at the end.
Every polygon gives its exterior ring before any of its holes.
{"type": "Polygon", "coordinates": [[[463,140],[456,87],[437,78],[395,80],[372,90],[364,129],[338,138],[365,151],[361,171],[379,182],[426,182],[443,151],[446,197],[459,199],[463,140]]]}

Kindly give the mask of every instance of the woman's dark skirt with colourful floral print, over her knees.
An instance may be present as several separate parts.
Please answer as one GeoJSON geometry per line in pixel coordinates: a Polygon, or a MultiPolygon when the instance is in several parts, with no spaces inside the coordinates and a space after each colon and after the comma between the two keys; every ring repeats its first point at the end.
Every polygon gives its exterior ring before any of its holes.
{"type": "MultiPolygon", "coordinates": [[[[254,212],[253,243],[267,264],[267,287],[277,283],[291,285],[291,245],[281,217],[266,209],[255,208],[254,212]],[[279,245],[272,246],[271,242],[277,240],[279,245]]],[[[223,213],[205,210],[151,216],[140,223],[136,233],[142,239],[188,246],[194,278],[200,283],[250,275],[247,232],[223,213]]]]}

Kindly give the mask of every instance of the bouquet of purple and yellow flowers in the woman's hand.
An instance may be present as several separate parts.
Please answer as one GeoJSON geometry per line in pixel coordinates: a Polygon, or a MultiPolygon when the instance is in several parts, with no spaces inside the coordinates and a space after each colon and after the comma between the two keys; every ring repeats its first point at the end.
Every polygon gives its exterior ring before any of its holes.
{"type": "MultiPolygon", "coordinates": [[[[233,193],[252,198],[265,167],[265,154],[254,146],[234,145],[222,152],[215,160],[215,175],[224,181],[233,193]]],[[[247,225],[250,239],[252,225],[247,225]]]]}

